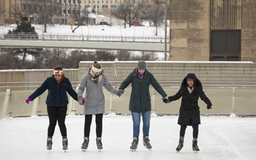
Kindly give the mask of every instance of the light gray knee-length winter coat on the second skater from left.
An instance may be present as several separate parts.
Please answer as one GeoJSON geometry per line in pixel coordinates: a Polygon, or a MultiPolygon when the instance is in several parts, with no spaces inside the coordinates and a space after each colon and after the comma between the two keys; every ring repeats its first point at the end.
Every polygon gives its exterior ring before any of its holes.
{"type": "Polygon", "coordinates": [[[78,97],[83,97],[84,88],[86,93],[84,99],[84,115],[96,115],[105,113],[105,99],[102,87],[104,86],[109,92],[117,94],[117,90],[109,84],[108,78],[102,72],[102,81],[95,83],[90,77],[90,73],[87,72],[81,79],[81,84],[78,90],[78,97]]]}

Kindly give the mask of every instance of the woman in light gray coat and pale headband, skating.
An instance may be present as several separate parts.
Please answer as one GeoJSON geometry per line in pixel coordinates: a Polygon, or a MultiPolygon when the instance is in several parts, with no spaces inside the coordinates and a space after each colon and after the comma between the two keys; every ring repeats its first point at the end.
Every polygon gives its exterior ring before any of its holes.
{"type": "Polygon", "coordinates": [[[102,149],[102,118],[105,113],[105,99],[102,87],[105,87],[109,92],[121,96],[120,92],[113,88],[109,84],[108,78],[103,73],[102,67],[97,61],[94,61],[92,67],[81,79],[81,84],[78,90],[78,102],[84,105],[84,143],[82,149],[88,148],[90,127],[92,124],[92,115],[96,117],[96,134],[97,134],[97,148],[102,149]],[[86,94],[83,98],[84,88],[86,88],[86,94]]]}

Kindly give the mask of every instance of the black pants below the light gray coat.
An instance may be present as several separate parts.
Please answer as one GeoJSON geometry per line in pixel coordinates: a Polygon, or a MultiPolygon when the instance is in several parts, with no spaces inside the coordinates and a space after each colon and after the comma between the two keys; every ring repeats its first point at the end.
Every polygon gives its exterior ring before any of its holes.
{"type": "MultiPolygon", "coordinates": [[[[96,122],[96,136],[102,136],[102,118],[103,113],[95,115],[95,122],[96,122]]],[[[92,115],[84,115],[84,137],[90,136],[91,124],[92,124],[92,115]]]]}

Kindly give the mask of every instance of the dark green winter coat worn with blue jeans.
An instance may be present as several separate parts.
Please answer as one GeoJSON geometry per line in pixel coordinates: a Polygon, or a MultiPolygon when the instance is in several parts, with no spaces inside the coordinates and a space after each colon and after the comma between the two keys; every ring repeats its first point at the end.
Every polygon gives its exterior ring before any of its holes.
{"type": "Polygon", "coordinates": [[[122,82],[119,89],[124,90],[130,83],[132,83],[129,110],[136,113],[151,111],[149,85],[151,84],[162,97],[166,97],[166,93],[153,74],[147,71],[146,77],[140,79],[140,77],[134,76],[136,70],[137,68],[129,74],[129,76],[122,82]]]}

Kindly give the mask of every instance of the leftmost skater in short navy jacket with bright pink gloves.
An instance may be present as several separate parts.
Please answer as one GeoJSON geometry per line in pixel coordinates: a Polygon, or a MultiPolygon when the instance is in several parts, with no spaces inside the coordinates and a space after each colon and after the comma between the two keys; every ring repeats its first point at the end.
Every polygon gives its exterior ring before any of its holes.
{"type": "Polygon", "coordinates": [[[62,135],[63,150],[68,149],[67,128],[65,118],[67,114],[68,94],[77,101],[77,93],[72,88],[72,85],[63,73],[61,67],[54,68],[51,77],[47,77],[44,83],[32,93],[26,102],[33,101],[36,97],[48,90],[45,103],[47,104],[47,113],[49,116],[49,127],[47,137],[47,150],[52,149],[52,136],[58,121],[60,132],[62,135]]]}

